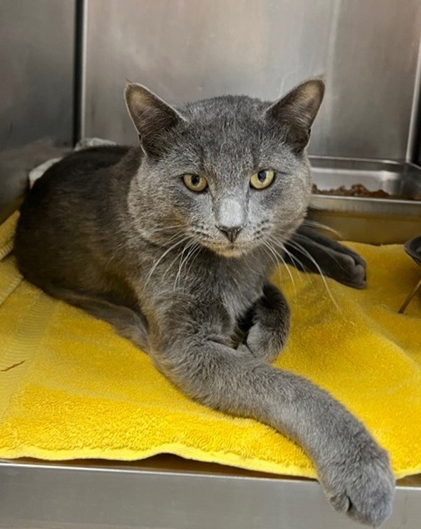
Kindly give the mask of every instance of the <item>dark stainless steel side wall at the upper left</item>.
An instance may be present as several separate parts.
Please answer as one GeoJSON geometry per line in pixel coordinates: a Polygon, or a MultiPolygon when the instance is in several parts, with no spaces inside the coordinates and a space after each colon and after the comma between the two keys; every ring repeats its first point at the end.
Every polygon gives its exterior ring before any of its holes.
{"type": "Polygon", "coordinates": [[[0,221],[73,139],[74,0],[0,0],[0,221]]]}

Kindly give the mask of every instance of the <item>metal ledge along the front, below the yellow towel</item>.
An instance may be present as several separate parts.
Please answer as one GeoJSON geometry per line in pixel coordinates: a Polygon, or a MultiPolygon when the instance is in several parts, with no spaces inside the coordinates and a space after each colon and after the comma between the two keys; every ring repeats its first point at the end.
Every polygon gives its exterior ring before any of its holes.
{"type": "MultiPolygon", "coordinates": [[[[415,529],[421,476],[399,481],[384,529],[415,529]]],[[[0,460],[0,527],[356,529],[316,481],[182,460],[0,460]]]]}

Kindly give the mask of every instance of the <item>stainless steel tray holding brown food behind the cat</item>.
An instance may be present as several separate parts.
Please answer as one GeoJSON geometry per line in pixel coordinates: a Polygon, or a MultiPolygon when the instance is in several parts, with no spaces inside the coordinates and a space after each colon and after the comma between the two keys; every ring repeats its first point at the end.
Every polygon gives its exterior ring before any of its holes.
{"type": "MultiPolygon", "coordinates": [[[[319,189],[363,184],[396,195],[421,193],[421,168],[409,163],[310,157],[319,189]]],[[[338,231],[342,240],[402,243],[421,235],[421,201],[312,195],[309,218],[338,231]]]]}

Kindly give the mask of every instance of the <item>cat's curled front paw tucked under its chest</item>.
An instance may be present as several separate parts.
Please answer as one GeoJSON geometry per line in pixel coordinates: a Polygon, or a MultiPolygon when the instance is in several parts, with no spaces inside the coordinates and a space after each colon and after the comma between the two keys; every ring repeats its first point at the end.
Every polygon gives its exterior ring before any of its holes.
{"type": "Polygon", "coordinates": [[[272,362],[283,349],[290,327],[290,312],[283,294],[273,284],[265,284],[263,296],[250,308],[240,324],[244,341],[239,350],[272,362]]]}

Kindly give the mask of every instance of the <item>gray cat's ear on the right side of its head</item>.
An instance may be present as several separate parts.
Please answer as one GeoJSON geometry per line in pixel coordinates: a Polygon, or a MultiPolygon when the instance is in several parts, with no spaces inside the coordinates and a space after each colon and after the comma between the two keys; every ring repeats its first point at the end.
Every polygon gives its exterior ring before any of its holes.
{"type": "Polygon", "coordinates": [[[266,111],[267,118],[276,120],[287,131],[288,142],[296,151],[304,149],[309,142],[324,91],[321,79],[311,79],[290,90],[266,111]]]}

